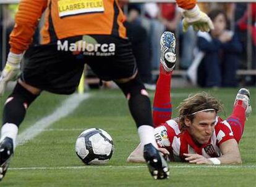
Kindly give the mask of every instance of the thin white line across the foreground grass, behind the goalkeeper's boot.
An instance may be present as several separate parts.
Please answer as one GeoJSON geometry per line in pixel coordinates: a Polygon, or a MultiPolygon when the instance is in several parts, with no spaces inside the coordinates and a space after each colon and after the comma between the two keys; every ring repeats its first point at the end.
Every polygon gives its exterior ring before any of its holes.
{"type": "MultiPolygon", "coordinates": [[[[147,168],[146,165],[114,166],[114,165],[88,165],[88,166],[67,166],[67,167],[13,167],[9,170],[62,170],[62,169],[136,169],[147,168]]],[[[220,168],[220,169],[256,169],[256,165],[169,165],[169,168],[220,168]]]]}

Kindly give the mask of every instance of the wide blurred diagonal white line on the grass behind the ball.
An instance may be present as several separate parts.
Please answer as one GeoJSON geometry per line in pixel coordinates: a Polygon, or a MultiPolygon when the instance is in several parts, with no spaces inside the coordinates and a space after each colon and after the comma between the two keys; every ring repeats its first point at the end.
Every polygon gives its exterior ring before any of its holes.
{"type": "Polygon", "coordinates": [[[28,127],[28,129],[20,133],[17,139],[17,146],[23,145],[27,141],[32,140],[51,124],[72,113],[83,100],[89,97],[89,94],[71,95],[69,98],[62,102],[59,108],[55,109],[54,113],[41,118],[40,121],[36,122],[34,125],[28,127]]]}

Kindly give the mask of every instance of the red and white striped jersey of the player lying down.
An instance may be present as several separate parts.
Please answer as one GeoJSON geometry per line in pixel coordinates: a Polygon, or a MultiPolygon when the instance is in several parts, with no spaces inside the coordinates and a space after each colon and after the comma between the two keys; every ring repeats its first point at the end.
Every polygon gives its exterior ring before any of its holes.
{"type": "Polygon", "coordinates": [[[198,146],[187,130],[181,132],[179,125],[173,119],[155,128],[155,138],[158,146],[168,149],[171,161],[184,161],[184,153],[200,154],[204,157],[220,157],[220,145],[234,138],[228,122],[216,117],[215,130],[208,143],[198,146]]]}

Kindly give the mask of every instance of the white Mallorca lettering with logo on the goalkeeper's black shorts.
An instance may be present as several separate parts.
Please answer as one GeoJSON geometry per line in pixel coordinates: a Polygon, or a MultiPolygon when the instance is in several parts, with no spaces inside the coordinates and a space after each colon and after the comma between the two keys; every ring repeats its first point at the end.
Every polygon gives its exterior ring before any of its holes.
{"type": "Polygon", "coordinates": [[[90,43],[87,41],[60,41],[57,42],[58,50],[70,51],[73,54],[77,55],[82,52],[83,55],[88,56],[113,56],[116,52],[116,44],[99,44],[99,43],[90,43]]]}

